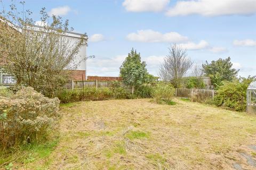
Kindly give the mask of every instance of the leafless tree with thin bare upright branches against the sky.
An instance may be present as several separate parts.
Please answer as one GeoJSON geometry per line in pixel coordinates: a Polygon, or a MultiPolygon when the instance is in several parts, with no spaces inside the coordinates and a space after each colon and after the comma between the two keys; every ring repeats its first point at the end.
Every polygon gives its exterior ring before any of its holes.
{"type": "Polygon", "coordinates": [[[173,86],[181,86],[182,78],[193,65],[187,57],[187,50],[176,44],[169,48],[169,54],[164,58],[164,63],[160,67],[159,77],[164,81],[171,81],[173,86]]]}

